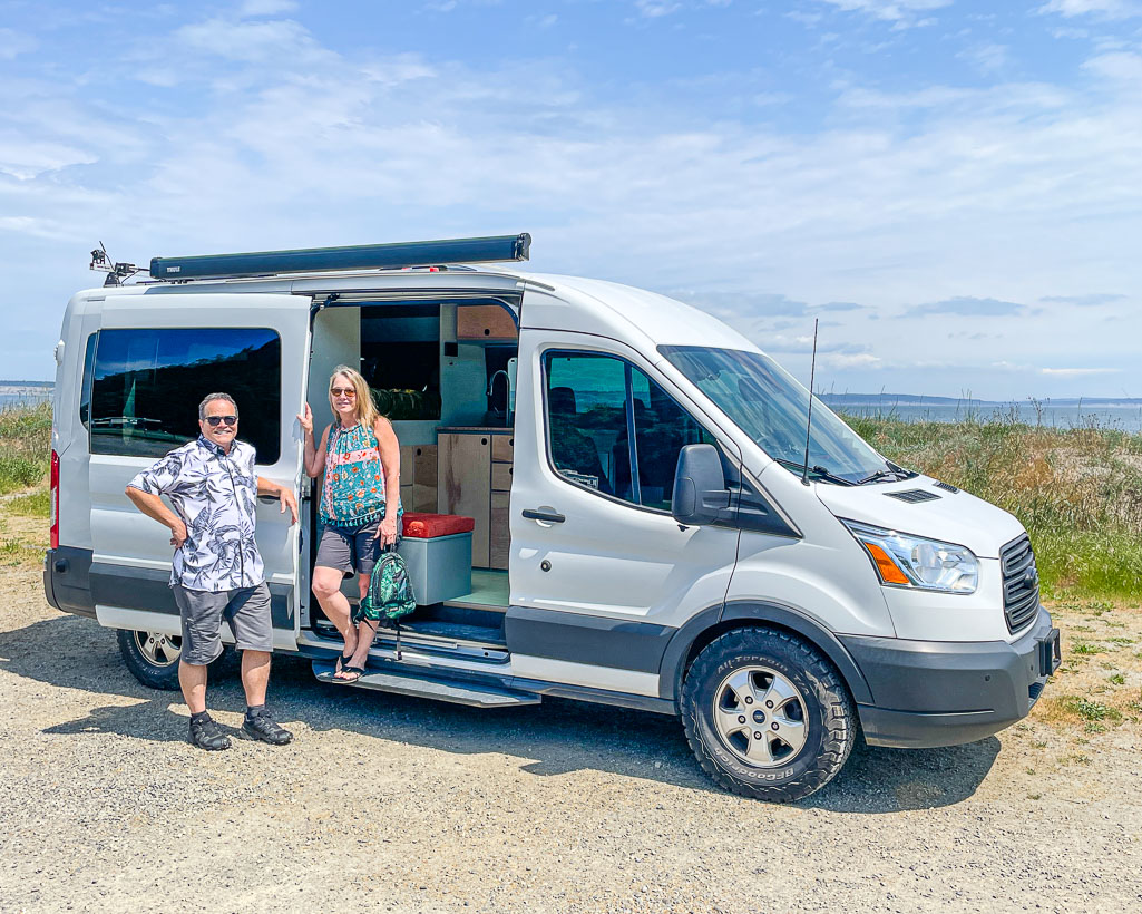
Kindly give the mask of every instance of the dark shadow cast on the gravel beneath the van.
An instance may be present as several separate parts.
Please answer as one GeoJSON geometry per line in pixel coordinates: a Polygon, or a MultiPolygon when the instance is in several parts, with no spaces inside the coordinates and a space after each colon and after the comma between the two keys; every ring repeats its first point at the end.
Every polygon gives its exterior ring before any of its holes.
{"type": "MultiPolygon", "coordinates": [[[[59,616],[0,633],[0,670],[59,688],[138,699],[89,708],[45,732],[118,733],[159,743],[186,738],[182,697],[142,686],[123,666],[114,632],[90,619],[59,616]]],[[[512,755],[521,760],[521,770],[539,777],[586,769],[721,793],[698,769],[678,721],[661,714],[554,698],[482,711],[324,684],[313,678],[308,660],[292,657],[274,658],[270,704],[283,724],[300,722],[314,733],[340,730],[461,755],[512,755]]],[[[244,711],[235,663],[223,664],[220,675],[211,667],[209,706],[244,711]]],[[[861,813],[950,805],[975,792],[998,752],[995,737],[942,749],[863,748],[833,784],[796,805],[861,813]]]]}

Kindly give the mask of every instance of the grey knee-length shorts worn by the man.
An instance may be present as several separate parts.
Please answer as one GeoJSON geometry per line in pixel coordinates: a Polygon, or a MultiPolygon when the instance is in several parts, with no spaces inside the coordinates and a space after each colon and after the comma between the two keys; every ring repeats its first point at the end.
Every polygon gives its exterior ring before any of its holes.
{"type": "Polygon", "coordinates": [[[234,630],[234,647],[239,650],[274,649],[274,631],[270,618],[270,587],[235,591],[190,591],[172,584],[175,602],[183,619],[182,660],[206,666],[222,654],[222,620],[234,630]]]}

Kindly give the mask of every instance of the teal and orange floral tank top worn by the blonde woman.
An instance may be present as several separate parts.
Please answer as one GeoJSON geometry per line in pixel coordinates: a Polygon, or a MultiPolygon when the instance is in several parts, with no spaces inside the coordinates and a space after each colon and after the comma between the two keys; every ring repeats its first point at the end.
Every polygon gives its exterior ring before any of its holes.
{"type": "Polygon", "coordinates": [[[385,470],[372,428],[335,422],[325,447],[325,484],[317,512],[327,527],[360,527],[385,516],[385,470]]]}

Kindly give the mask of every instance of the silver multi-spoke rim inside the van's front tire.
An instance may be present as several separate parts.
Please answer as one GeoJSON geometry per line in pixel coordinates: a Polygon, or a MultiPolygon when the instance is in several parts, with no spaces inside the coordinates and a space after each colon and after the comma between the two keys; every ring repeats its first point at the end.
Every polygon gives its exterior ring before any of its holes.
{"type": "Polygon", "coordinates": [[[747,764],[788,764],[809,736],[805,699],[777,671],[743,666],[714,690],[714,729],[725,747],[747,764]]]}

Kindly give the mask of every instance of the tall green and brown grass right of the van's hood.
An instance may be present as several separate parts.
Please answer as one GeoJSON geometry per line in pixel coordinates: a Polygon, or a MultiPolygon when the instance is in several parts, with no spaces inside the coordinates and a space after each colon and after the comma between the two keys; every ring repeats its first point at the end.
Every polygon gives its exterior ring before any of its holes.
{"type": "Polygon", "coordinates": [[[1142,591],[1142,435],[1084,424],[1027,425],[1011,414],[958,423],[846,417],[896,463],[1014,514],[1035,544],[1044,595],[1105,600],[1142,591]]]}

